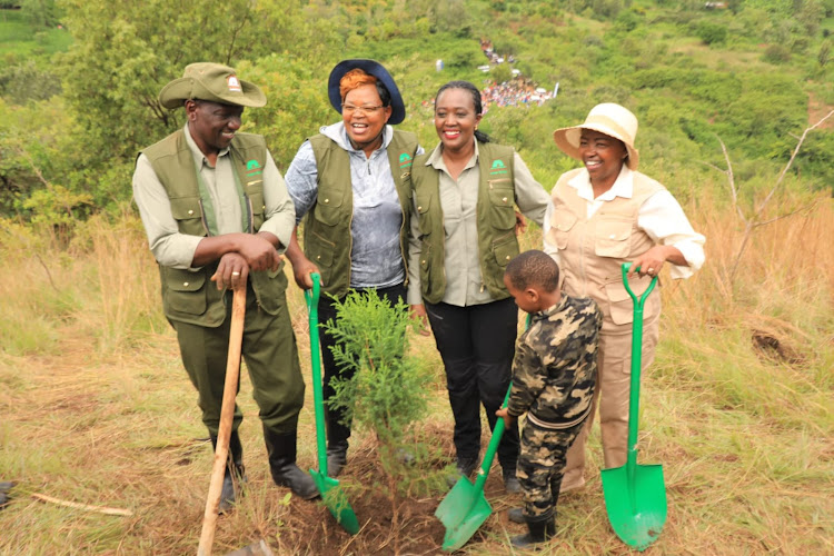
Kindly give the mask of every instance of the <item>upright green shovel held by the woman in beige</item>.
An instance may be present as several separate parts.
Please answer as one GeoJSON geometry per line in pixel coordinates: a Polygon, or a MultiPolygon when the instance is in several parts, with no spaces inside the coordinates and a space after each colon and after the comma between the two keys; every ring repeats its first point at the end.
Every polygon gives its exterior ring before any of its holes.
{"type": "Polygon", "coordinates": [[[605,509],[612,528],[625,544],[638,550],[645,550],[657,539],[666,523],[666,485],[663,481],[663,467],[637,465],[643,306],[657,284],[657,276],[652,279],[646,291],[637,299],[632,288],[628,287],[627,272],[631,266],[631,262],[623,265],[623,284],[634,302],[632,381],[628,399],[628,456],[625,466],[604,469],[602,475],[605,509]]]}

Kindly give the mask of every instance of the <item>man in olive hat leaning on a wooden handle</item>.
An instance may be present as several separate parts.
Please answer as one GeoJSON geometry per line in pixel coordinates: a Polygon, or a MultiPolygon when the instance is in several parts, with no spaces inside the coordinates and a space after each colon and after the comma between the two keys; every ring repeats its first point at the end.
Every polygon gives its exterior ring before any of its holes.
{"type": "MultiPolygon", "coordinates": [[[[133,197],[159,262],[162,307],[217,444],[229,346],[231,289],[247,288],[241,354],[260,409],[272,479],[304,499],[319,495],[296,465],[304,379],[285,290],[281,254],[295,209],[261,136],[238,133],[245,107],[264,92],[232,68],[192,63],[165,86],[160,103],[183,107],[187,122],[137,158],[133,197]],[[212,284],[214,282],[214,284],[212,284]]],[[[244,478],[235,407],[220,510],[244,478]]]]}

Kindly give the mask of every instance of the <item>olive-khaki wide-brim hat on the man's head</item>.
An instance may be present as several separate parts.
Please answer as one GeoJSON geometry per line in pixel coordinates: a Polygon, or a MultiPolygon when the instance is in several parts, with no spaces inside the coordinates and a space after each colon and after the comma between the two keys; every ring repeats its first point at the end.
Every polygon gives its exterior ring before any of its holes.
{"type": "Polygon", "coordinates": [[[186,100],[208,100],[250,108],[267,103],[260,87],[238,79],[234,68],[212,62],[188,64],[180,79],[175,79],[159,91],[159,102],[166,108],[180,107],[186,100]]]}

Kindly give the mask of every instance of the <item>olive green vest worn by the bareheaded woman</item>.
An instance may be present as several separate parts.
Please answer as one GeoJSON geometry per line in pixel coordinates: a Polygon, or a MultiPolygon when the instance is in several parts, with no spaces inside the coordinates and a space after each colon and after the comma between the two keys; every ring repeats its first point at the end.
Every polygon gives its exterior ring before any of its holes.
{"type": "MultiPolygon", "coordinates": [[[[423,297],[439,304],[446,292],[444,216],[440,207],[439,172],[426,165],[430,153],[415,159],[411,188],[420,219],[420,286],[423,297]]],[[[509,297],[504,269],[518,255],[516,238],[514,151],[512,147],[478,143],[480,181],[476,218],[480,276],[494,299],[509,297]]]]}

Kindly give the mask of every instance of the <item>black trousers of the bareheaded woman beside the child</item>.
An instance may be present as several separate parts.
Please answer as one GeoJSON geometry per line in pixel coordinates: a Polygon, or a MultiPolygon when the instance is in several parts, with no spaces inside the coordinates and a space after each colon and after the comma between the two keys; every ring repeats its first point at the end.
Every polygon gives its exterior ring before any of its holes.
{"type": "MultiPolygon", "coordinates": [[[[513,298],[457,307],[426,304],[437,349],[446,367],[446,386],[455,416],[455,449],[459,459],[480,453],[480,406],[490,430],[504,403],[512,376],[518,331],[518,308],[513,298]]],[[[507,427],[498,445],[498,461],[515,470],[518,426],[507,427]]]]}

